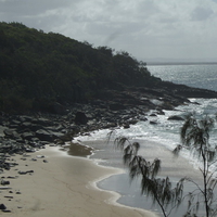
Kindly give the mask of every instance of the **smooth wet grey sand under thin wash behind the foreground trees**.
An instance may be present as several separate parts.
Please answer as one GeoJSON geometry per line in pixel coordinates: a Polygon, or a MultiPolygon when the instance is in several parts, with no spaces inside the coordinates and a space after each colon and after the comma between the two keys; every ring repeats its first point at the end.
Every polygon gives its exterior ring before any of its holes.
{"type": "MultiPolygon", "coordinates": [[[[102,144],[101,140],[85,140],[82,143],[98,150],[94,155],[91,155],[91,158],[100,158],[101,165],[112,166],[114,168],[126,168],[122,162],[122,153],[118,153],[117,150],[114,150],[114,148],[110,145],[102,144]]],[[[173,184],[183,177],[191,177],[201,183],[200,170],[195,169],[187,158],[182,156],[175,157],[171,151],[166,149],[159,142],[140,140],[140,144],[145,146],[140,150],[140,154],[143,155],[146,161],[153,161],[156,157],[162,159],[162,170],[158,177],[166,178],[168,176],[173,184]]],[[[98,182],[98,186],[100,189],[118,192],[122,195],[117,200],[118,204],[155,212],[159,215],[162,210],[157,206],[152,206],[152,200],[146,199],[145,195],[141,196],[140,182],[136,180],[136,183],[129,183],[127,180],[129,180],[128,173],[117,174],[116,176],[112,176],[98,182]]],[[[186,182],[184,194],[191,192],[192,188],[194,188],[192,183],[186,182]]],[[[179,207],[179,210],[177,209],[178,213],[174,210],[175,213],[171,216],[184,215],[183,212],[186,210],[186,206],[188,205],[184,202],[179,207]]]]}

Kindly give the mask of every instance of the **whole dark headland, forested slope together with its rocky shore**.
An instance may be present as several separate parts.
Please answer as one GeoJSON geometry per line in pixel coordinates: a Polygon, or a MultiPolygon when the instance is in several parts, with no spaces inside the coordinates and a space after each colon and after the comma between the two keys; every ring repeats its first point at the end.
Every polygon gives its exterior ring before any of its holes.
{"type": "MultiPolygon", "coordinates": [[[[163,115],[164,110],[190,103],[189,98],[217,98],[215,91],[152,76],[145,63],[127,52],[92,48],[18,23],[0,26],[2,174],[17,166],[11,161],[15,154],[25,161],[26,154],[46,144],[63,145],[92,130],[149,122],[150,110],[163,115]]],[[[2,175],[2,188],[10,186],[10,178],[2,175]]],[[[4,204],[0,209],[8,210],[4,204]]]]}

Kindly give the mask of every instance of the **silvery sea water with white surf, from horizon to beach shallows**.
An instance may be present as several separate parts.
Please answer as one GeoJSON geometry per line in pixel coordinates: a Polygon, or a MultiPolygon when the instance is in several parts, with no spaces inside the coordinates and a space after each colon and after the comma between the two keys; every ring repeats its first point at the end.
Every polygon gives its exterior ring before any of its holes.
{"type": "MultiPolygon", "coordinates": [[[[148,66],[152,75],[162,78],[163,80],[169,80],[177,84],[184,84],[191,87],[205,88],[217,91],[217,65],[157,65],[148,66]]],[[[165,158],[164,150],[173,151],[177,144],[180,143],[180,127],[183,122],[180,120],[168,120],[171,115],[186,115],[189,112],[195,112],[199,115],[208,114],[213,117],[217,113],[217,99],[190,99],[190,104],[180,105],[175,111],[164,111],[165,115],[151,116],[155,111],[150,111],[145,116],[146,122],[139,122],[136,125],[130,126],[129,129],[118,128],[115,129],[115,137],[125,136],[130,140],[139,140],[141,145],[142,141],[149,141],[152,145],[156,144],[157,151],[154,152],[159,154],[159,158],[165,158]],[[195,103],[196,102],[196,103],[195,103]],[[154,120],[157,124],[151,125],[150,120],[154,120]],[[162,155],[161,155],[162,154],[162,155]]],[[[92,156],[93,158],[100,158],[100,163],[107,166],[123,167],[120,154],[112,148],[107,148],[105,144],[106,135],[110,130],[99,130],[90,133],[90,136],[78,137],[77,140],[91,145],[98,150],[92,156]],[[98,143],[95,143],[98,141],[98,143]],[[99,143],[99,141],[101,141],[99,143]]],[[[146,142],[145,142],[146,144],[146,142]]],[[[210,144],[217,145],[217,127],[210,135],[210,144]]],[[[148,153],[148,155],[155,155],[152,153],[151,146],[150,152],[146,151],[145,146],[142,146],[141,153],[148,153]]],[[[181,153],[182,157],[186,158],[195,169],[199,167],[200,162],[188,151],[181,153]]],[[[173,165],[176,169],[176,163],[173,165]]],[[[168,167],[167,170],[173,170],[168,167]]],[[[181,173],[181,171],[180,171],[181,173]]],[[[127,171],[123,175],[113,176],[106,180],[98,183],[100,188],[116,191],[122,194],[118,200],[119,203],[129,205],[132,207],[140,207],[151,210],[156,210],[161,215],[161,210],[152,206],[152,203],[145,196],[140,194],[140,183],[138,180],[130,183],[127,171]]],[[[182,213],[171,214],[171,217],[181,216],[182,213]]]]}

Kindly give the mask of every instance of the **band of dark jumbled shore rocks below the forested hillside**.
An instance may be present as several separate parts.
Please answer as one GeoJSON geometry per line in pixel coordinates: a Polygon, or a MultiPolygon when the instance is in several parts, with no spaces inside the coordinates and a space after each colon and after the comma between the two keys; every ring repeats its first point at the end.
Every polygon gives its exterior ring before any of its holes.
{"type": "MultiPolygon", "coordinates": [[[[12,164],[7,163],[7,156],[14,153],[34,152],[42,149],[47,143],[64,144],[79,133],[87,133],[97,129],[124,127],[139,120],[156,125],[157,122],[148,117],[150,110],[153,115],[164,115],[163,110],[174,110],[177,105],[190,103],[182,94],[178,94],[186,86],[167,86],[158,88],[123,88],[122,90],[105,90],[103,97],[92,99],[86,104],[63,106],[59,114],[31,114],[0,116],[0,170],[10,169],[12,164]],[[66,112],[67,111],[67,112],[66,112]]],[[[188,88],[187,88],[188,89],[188,88]]],[[[197,90],[197,95],[215,97],[214,91],[197,90]]],[[[195,97],[195,95],[194,95],[195,97]]],[[[216,95],[217,97],[217,95],[216,95]]],[[[173,116],[169,119],[182,120],[182,117],[173,116]]]]}

